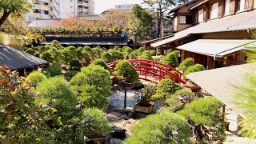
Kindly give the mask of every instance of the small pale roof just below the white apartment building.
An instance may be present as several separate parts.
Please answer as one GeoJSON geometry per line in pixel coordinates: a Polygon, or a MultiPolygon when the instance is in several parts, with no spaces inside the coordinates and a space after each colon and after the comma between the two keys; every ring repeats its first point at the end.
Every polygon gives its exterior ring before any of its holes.
{"type": "Polygon", "coordinates": [[[34,20],[29,24],[31,27],[52,27],[56,24],[56,22],[60,21],[60,19],[38,19],[34,20]]]}

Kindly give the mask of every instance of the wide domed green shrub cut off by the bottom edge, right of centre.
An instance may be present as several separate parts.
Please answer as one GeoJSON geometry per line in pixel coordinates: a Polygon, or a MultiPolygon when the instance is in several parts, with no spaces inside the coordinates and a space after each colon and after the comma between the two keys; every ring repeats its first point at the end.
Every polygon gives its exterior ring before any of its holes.
{"type": "Polygon", "coordinates": [[[186,119],[169,111],[142,118],[131,130],[132,135],[125,139],[125,144],[191,143],[191,130],[186,119]]]}

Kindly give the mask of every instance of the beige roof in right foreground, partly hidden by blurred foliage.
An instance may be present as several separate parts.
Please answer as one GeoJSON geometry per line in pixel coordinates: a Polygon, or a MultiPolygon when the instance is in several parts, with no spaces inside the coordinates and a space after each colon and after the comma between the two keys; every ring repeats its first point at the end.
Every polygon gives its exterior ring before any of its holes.
{"type": "Polygon", "coordinates": [[[240,114],[242,117],[250,117],[256,114],[256,110],[251,111],[246,107],[241,107],[236,102],[241,101],[236,94],[241,93],[235,86],[248,86],[246,74],[255,74],[256,62],[238,66],[229,66],[214,70],[204,70],[187,75],[191,81],[202,87],[208,93],[218,98],[230,109],[240,114]]]}

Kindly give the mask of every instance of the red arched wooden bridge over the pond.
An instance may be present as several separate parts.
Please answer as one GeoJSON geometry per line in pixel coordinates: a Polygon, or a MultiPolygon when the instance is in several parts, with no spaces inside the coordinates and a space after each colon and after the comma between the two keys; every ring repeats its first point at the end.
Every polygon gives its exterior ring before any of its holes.
{"type": "MultiPolygon", "coordinates": [[[[182,80],[182,73],[176,70],[174,67],[168,66],[161,62],[155,62],[148,59],[127,59],[128,62],[131,63],[132,66],[138,71],[139,79],[158,83],[161,79],[167,78],[168,76],[173,78],[174,82],[179,82],[180,84],[186,84],[182,80]],[[170,71],[176,71],[178,76],[171,73],[170,71]]],[[[114,71],[114,66],[118,63],[110,62],[107,65],[110,66],[111,70],[114,71]]]]}

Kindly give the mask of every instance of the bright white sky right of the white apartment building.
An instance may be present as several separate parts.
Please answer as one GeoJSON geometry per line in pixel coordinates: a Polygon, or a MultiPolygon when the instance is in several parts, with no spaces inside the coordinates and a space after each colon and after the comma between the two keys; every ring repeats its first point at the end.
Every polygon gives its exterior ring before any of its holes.
{"type": "Polygon", "coordinates": [[[101,14],[104,10],[114,8],[114,5],[141,4],[143,0],[94,0],[95,14],[101,14]]]}

